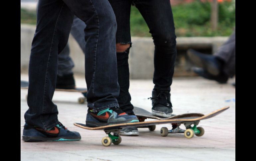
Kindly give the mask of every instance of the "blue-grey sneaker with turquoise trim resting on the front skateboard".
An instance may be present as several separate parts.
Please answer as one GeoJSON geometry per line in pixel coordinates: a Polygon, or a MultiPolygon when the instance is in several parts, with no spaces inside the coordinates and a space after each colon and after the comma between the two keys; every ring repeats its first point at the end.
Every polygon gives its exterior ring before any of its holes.
{"type": "Polygon", "coordinates": [[[99,112],[88,109],[86,125],[91,127],[105,126],[118,123],[139,122],[135,115],[127,115],[120,108],[112,107],[99,112]]]}

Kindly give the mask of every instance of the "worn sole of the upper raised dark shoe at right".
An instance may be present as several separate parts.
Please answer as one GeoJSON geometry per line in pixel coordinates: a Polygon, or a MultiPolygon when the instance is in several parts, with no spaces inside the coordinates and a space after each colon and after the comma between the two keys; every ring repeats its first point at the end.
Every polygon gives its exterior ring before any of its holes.
{"type": "Polygon", "coordinates": [[[214,76],[217,76],[219,74],[219,70],[213,63],[202,60],[199,56],[193,54],[192,52],[188,52],[188,55],[193,61],[193,63],[195,63],[197,66],[201,68],[206,69],[207,72],[209,72],[210,74],[214,76]]]}

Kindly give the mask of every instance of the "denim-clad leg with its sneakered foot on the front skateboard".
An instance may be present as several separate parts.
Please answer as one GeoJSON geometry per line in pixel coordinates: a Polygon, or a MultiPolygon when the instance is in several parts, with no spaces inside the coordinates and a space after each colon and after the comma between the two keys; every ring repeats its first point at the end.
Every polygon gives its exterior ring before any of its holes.
{"type": "Polygon", "coordinates": [[[87,84],[86,124],[100,126],[137,122],[135,116],[123,113],[116,98],[119,95],[115,49],[116,20],[107,0],[76,0],[87,7],[64,0],[71,11],[85,22],[85,80],[87,84]],[[86,13],[83,15],[83,13],[86,13]]]}

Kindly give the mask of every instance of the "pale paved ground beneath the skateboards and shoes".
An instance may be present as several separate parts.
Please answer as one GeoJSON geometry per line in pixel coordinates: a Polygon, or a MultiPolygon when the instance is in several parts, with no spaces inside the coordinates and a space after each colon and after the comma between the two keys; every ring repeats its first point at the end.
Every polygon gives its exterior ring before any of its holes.
{"type": "MultiPolygon", "coordinates": [[[[83,76],[76,76],[77,86],[84,87],[83,76]]],[[[21,80],[28,75],[21,74],[21,80]]],[[[174,114],[188,112],[207,114],[224,106],[231,108],[222,114],[200,122],[205,129],[201,137],[187,139],[183,134],[160,136],[160,128],[169,124],[157,125],[155,131],[139,129],[140,136],[122,136],[119,145],[104,147],[101,130],[83,130],[73,122],[85,122],[86,104],[78,104],[79,93],[56,91],[54,103],[59,109],[59,120],[69,128],[80,132],[80,141],[65,142],[24,142],[21,140],[21,160],[235,160],[235,88],[228,84],[220,85],[199,77],[175,78],[172,85],[171,101],[174,114]],[[230,101],[228,101],[230,100],[230,101]]],[[[132,103],[148,111],[151,110],[151,80],[131,80],[130,93],[132,103]]],[[[24,125],[24,113],[28,109],[25,96],[27,90],[21,89],[21,125],[24,125]]],[[[181,127],[184,127],[182,125],[181,127]]],[[[21,127],[21,138],[22,138],[21,127]]]]}

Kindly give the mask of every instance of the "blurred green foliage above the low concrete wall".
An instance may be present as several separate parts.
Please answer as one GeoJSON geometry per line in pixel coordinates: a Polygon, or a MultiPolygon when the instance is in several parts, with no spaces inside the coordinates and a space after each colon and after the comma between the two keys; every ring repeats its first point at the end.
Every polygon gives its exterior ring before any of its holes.
{"type": "MultiPolygon", "coordinates": [[[[218,29],[212,31],[210,24],[211,5],[196,0],[192,3],[172,6],[175,32],[178,37],[230,36],[235,27],[235,2],[219,3],[218,29]]],[[[36,24],[36,13],[21,9],[21,23],[36,24]]],[[[131,7],[131,35],[151,37],[148,26],[138,9],[131,7]]]]}

